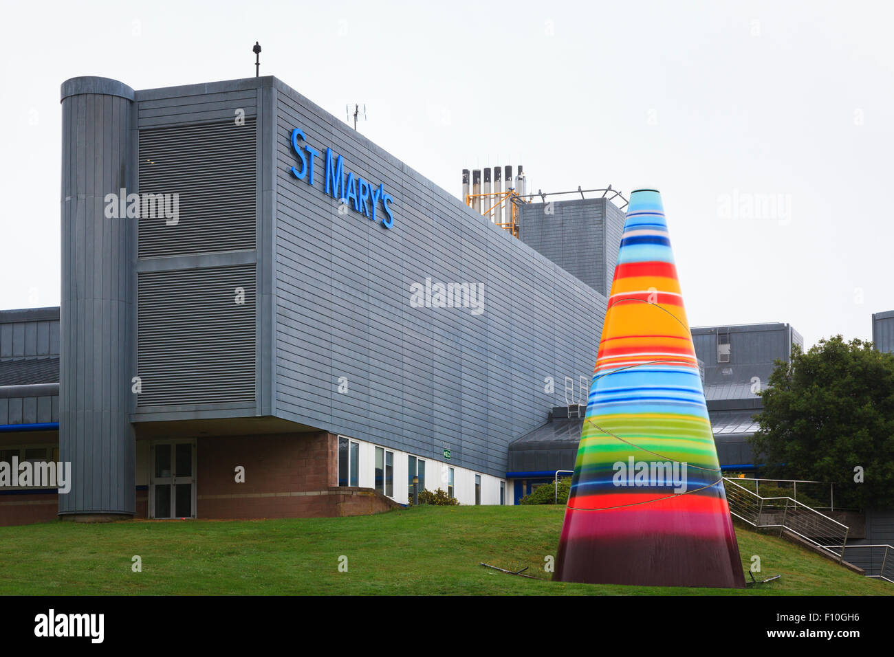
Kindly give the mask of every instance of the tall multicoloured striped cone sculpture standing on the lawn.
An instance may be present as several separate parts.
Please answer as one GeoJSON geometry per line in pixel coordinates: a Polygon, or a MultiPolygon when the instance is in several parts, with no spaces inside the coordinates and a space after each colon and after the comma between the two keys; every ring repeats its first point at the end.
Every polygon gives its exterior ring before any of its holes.
{"type": "Polygon", "coordinates": [[[655,190],[630,196],[555,578],[745,586],[655,190]]]}

